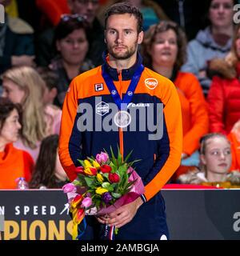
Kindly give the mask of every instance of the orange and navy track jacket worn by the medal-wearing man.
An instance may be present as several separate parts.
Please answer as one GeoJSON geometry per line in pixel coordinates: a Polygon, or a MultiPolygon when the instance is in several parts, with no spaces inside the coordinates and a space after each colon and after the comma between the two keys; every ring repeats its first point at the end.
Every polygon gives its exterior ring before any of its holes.
{"type": "MultiPolygon", "coordinates": [[[[120,97],[124,97],[134,71],[142,64],[138,58],[130,69],[118,70],[109,66],[107,58],[103,65],[114,81],[120,97]]],[[[78,75],[70,83],[62,108],[62,123],[59,139],[59,157],[70,180],[76,178],[75,166],[78,159],[96,156],[110,146],[116,155],[118,146],[123,158],[133,150],[129,161],[141,159],[135,170],[145,185],[143,197],[146,201],[153,198],[174,174],[182,154],[182,113],[177,90],[169,79],[144,67],[127,112],[134,113],[136,127],[119,128],[114,124],[114,99],[102,78],[102,66],[78,75]],[[162,137],[150,140],[147,123],[156,122],[156,111],[162,104],[162,137]],[[154,114],[149,114],[153,107],[154,114]],[[142,119],[142,114],[146,118],[142,119]],[[150,119],[150,120],[149,120],[150,119]],[[85,120],[85,121],[82,121],[85,120]],[[142,121],[143,120],[143,121],[142,121]],[[100,125],[99,125],[100,123],[100,125]],[[143,129],[145,123],[146,129],[143,129]],[[87,128],[84,130],[83,126],[87,128]],[[110,129],[112,127],[112,129],[110,129]]]]}

